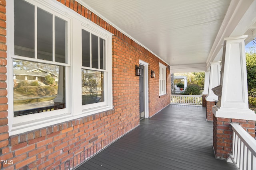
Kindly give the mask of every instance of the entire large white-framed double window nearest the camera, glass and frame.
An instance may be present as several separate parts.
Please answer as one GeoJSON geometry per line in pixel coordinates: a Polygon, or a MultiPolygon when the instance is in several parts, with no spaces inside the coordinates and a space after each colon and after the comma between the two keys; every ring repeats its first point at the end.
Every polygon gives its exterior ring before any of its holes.
{"type": "Polygon", "coordinates": [[[56,1],[7,17],[10,135],[112,109],[112,34],[56,1]]]}

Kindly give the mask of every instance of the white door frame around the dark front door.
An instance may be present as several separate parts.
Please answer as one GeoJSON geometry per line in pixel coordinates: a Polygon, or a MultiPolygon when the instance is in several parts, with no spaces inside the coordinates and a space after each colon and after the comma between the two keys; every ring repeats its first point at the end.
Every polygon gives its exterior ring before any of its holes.
{"type": "Polygon", "coordinates": [[[144,114],[144,117],[145,118],[148,118],[148,63],[140,60],[140,65],[144,66],[144,111],[145,111],[145,114],[144,114]]]}

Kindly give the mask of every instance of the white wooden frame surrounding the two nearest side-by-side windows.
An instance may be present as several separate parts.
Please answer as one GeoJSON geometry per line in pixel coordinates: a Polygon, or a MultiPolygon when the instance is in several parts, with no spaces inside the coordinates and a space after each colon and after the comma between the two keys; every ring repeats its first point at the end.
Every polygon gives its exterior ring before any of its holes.
{"type": "MultiPolygon", "coordinates": [[[[58,65],[65,66],[66,68],[66,108],[48,111],[44,113],[35,113],[31,115],[22,115],[14,117],[13,111],[13,66],[12,60],[27,60],[32,62],[40,62],[46,64],[55,64],[52,61],[41,61],[39,59],[32,59],[28,57],[20,57],[14,55],[14,0],[8,0],[6,3],[7,11],[7,87],[8,87],[8,125],[9,134],[16,135],[31,131],[34,129],[62,123],[72,119],[84,117],[113,109],[112,104],[112,34],[105,29],[99,27],[95,23],[73,10],[67,8],[63,4],[57,1],[42,0],[25,0],[26,2],[45,10],[63,20],[67,21],[67,53],[66,63],[58,63],[58,65]],[[82,68],[82,28],[87,29],[94,35],[98,35],[102,39],[105,39],[106,43],[106,65],[104,74],[104,90],[106,91],[104,96],[106,97],[104,104],[94,105],[92,107],[82,107],[81,96],[81,68],[82,68]],[[79,41],[81,40],[81,41],[79,41]]],[[[36,51],[35,51],[36,52],[36,51]]]]}

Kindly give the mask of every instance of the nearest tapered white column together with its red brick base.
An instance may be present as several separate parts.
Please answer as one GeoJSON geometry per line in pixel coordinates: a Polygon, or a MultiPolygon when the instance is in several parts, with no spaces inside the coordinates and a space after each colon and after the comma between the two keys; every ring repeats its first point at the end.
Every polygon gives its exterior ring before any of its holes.
{"type": "Polygon", "coordinates": [[[213,147],[216,158],[226,159],[231,153],[232,130],[230,123],[240,124],[255,137],[256,114],[248,106],[247,74],[244,40],[225,38],[220,87],[222,94],[212,109],[214,113],[213,147]]]}

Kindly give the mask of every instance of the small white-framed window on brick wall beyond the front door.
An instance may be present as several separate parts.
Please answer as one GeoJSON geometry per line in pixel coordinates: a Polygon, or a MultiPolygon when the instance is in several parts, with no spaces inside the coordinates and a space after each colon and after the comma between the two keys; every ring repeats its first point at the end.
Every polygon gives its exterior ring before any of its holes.
{"type": "Polygon", "coordinates": [[[166,94],[166,66],[159,63],[159,95],[166,94]]]}

